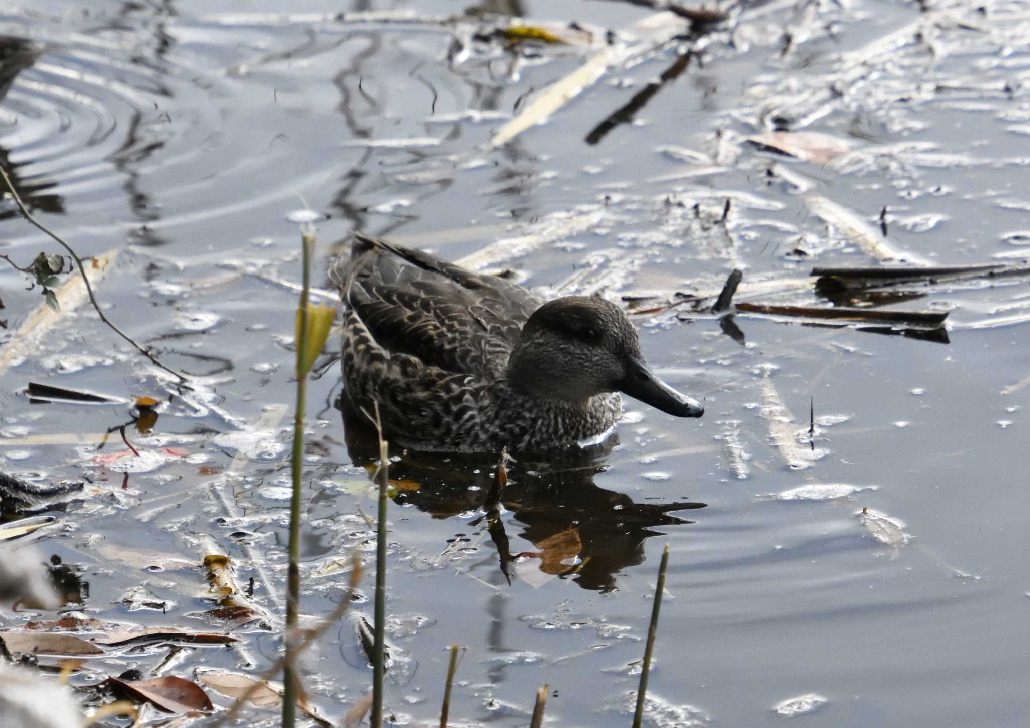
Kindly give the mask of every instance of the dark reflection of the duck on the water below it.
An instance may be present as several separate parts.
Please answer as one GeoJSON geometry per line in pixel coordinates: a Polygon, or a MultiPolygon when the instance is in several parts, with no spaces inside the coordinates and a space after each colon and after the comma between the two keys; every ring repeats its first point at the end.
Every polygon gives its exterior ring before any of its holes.
{"type": "MultiPolygon", "coordinates": [[[[375,428],[363,414],[344,412],[343,419],[351,460],[374,469],[379,458],[375,428]]],[[[401,459],[390,463],[390,493],[397,504],[412,505],[433,518],[481,512],[467,525],[489,533],[509,583],[517,578],[513,562],[524,556],[542,579],[572,579],[584,589],[611,591],[620,570],[644,560],[644,541],[661,534],[654,528],[693,523],[673,514],[705,508],[695,501],[634,502],[625,493],[598,487],[594,476],[607,470],[606,458],[617,443],[613,435],[604,445],[547,460],[516,454],[505,469],[507,484],[497,475],[500,453],[391,449],[390,455],[401,459]],[[513,524],[502,509],[521,526],[518,533],[510,533],[513,524]],[[533,547],[512,551],[512,535],[533,547]]],[[[523,576],[524,563],[518,568],[523,576]]]]}

